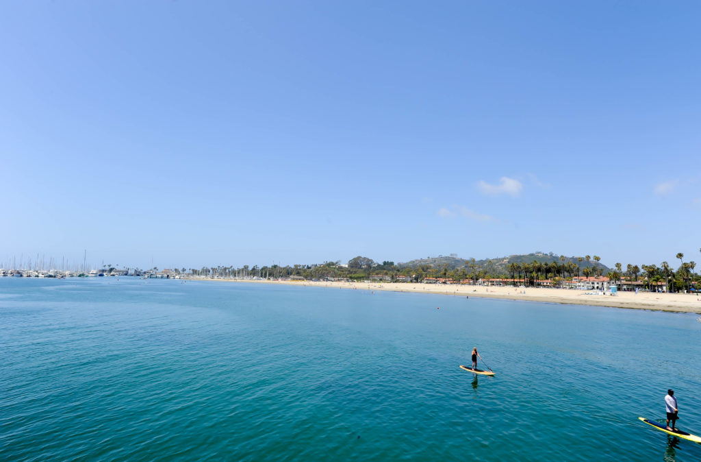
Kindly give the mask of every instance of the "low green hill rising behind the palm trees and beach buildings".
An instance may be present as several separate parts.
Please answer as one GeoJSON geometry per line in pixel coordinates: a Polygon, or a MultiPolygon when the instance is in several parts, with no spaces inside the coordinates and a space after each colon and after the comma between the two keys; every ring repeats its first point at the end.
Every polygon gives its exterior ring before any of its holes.
{"type": "MultiPolygon", "coordinates": [[[[407,263],[399,263],[397,266],[400,268],[418,268],[419,266],[424,265],[430,268],[443,268],[444,266],[447,266],[449,270],[455,270],[458,268],[470,268],[470,265],[475,265],[475,267],[489,270],[489,272],[501,273],[508,273],[508,267],[511,263],[533,263],[533,261],[537,261],[538,263],[556,262],[558,264],[572,262],[575,265],[579,265],[579,267],[582,269],[597,266],[597,263],[594,260],[590,260],[587,263],[587,260],[585,260],[583,257],[581,258],[581,262],[576,256],[565,257],[564,261],[561,261],[560,256],[555,253],[535,252],[528,253],[526,255],[486,258],[484,260],[475,260],[473,263],[471,258],[459,258],[455,253],[452,253],[450,256],[440,255],[437,257],[418,258],[416,260],[408,261],[407,263]]],[[[601,263],[599,263],[599,267],[601,267],[601,271],[604,274],[610,270],[610,268],[601,263]]]]}

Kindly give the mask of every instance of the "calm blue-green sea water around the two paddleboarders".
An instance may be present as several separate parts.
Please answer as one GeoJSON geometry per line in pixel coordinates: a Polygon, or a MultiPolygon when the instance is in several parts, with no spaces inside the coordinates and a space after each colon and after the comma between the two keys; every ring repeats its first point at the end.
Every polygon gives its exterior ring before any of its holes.
{"type": "Polygon", "coordinates": [[[695,315],[0,278],[0,459],[699,461],[695,315]],[[436,308],[440,307],[440,310],[436,308]],[[496,371],[473,376],[477,346],[496,371]]]}

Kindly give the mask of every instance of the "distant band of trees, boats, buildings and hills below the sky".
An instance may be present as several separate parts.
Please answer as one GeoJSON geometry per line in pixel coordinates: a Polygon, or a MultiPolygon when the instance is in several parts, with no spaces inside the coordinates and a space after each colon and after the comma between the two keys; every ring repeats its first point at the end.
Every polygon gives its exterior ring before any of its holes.
{"type": "MultiPolygon", "coordinates": [[[[674,270],[669,263],[658,265],[627,265],[615,263],[607,268],[594,256],[565,257],[553,253],[536,252],[528,255],[465,260],[455,255],[413,260],[395,265],[393,261],[375,262],[371,258],[357,256],[347,264],[325,261],[311,265],[262,266],[243,265],[196,268],[168,268],[149,270],[116,268],[102,265],[102,269],[89,268],[83,262],[74,270],[43,270],[51,268],[53,260],[45,265],[37,256],[34,269],[0,269],[0,277],[143,277],[158,279],[236,279],[313,282],[405,282],[426,284],[466,284],[472,286],[522,286],[552,287],[603,291],[615,287],[620,291],[696,292],[701,288],[701,276],[695,272],[693,261],[683,261],[674,270]]],[[[14,263],[14,260],[13,260],[14,263]]],[[[31,263],[27,262],[29,267],[31,263]]],[[[22,259],[20,258],[20,265],[22,259]]]]}

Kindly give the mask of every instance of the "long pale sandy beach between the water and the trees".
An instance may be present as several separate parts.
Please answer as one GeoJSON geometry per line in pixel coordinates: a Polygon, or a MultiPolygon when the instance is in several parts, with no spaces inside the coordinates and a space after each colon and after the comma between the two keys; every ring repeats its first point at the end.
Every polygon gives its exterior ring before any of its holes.
{"type": "Polygon", "coordinates": [[[199,279],[193,281],[248,282],[253,284],[283,284],[290,286],[330,287],[367,291],[435,293],[437,295],[501,298],[506,300],[590,305],[632,310],[654,310],[701,314],[701,297],[692,293],[618,292],[616,296],[589,295],[593,291],[545,289],[513,286],[468,286],[461,284],[422,284],[413,282],[314,282],[268,281],[250,279],[199,279]]]}

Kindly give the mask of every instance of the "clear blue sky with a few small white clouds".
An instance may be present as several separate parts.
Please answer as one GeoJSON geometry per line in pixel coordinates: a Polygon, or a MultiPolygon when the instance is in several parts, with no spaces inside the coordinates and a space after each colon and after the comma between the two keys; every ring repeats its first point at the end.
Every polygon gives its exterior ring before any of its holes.
{"type": "Polygon", "coordinates": [[[0,262],[701,260],[698,2],[1,9],[0,262]]]}

